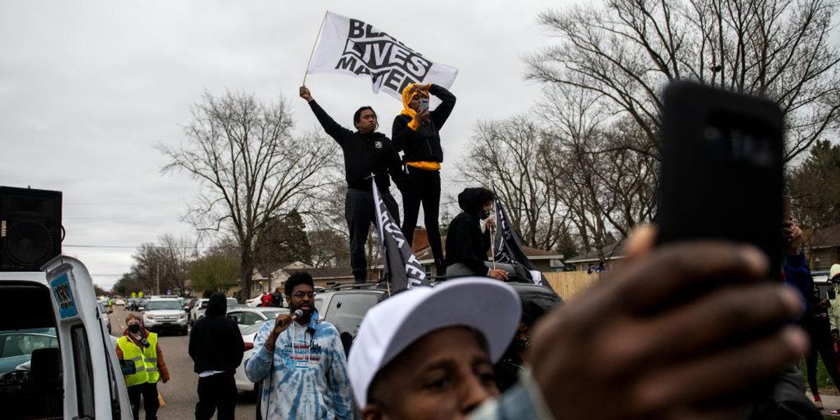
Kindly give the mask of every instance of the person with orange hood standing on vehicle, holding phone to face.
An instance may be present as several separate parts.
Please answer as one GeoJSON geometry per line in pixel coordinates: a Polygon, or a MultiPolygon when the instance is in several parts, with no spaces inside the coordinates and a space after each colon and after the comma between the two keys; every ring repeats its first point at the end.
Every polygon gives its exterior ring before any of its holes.
{"type": "Polygon", "coordinates": [[[444,161],[444,149],[440,146],[440,129],[452,113],[455,96],[444,87],[411,84],[402,89],[402,113],[394,118],[391,138],[396,150],[403,152],[407,176],[402,191],[402,210],[405,212],[402,234],[408,244],[414,239],[417,215],[423,203],[428,244],[432,247],[438,276],[446,271],[444,253],[440,244],[438,213],[440,207],[440,164],[444,161]],[[429,94],[442,101],[429,112],[421,108],[422,99],[429,94]]]}

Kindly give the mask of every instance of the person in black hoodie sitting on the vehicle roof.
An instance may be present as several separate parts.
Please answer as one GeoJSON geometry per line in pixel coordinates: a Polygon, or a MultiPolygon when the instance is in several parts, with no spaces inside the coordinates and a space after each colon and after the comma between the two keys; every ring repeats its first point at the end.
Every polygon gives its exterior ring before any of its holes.
{"type": "Polygon", "coordinates": [[[486,188],[465,188],[458,194],[458,205],[463,212],[449,223],[446,236],[446,276],[488,276],[507,280],[508,273],[515,272],[512,265],[496,263],[494,266],[487,261],[490,230],[496,226],[496,221],[490,218],[493,192],[486,188]],[[480,222],[486,218],[490,219],[482,234],[480,222]]]}

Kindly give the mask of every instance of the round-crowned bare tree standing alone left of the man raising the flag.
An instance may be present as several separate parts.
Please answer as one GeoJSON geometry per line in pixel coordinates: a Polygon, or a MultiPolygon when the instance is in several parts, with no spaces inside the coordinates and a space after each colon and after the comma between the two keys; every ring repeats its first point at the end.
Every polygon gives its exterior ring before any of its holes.
{"type": "MultiPolygon", "coordinates": [[[[253,94],[214,97],[192,106],[186,145],[159,150],[167,171],[186,171],[201,184],[200,203],[187,219],[200,232],[222,232],[239,248],[240,300],[249,297],[255,239],[271,219],[308,208],[335,165],[334,142],[318,135],[294,137],[289,104],[266,104],[253,94]]],[[[303,211],[301,213],[304,213],[303,211]]]]}

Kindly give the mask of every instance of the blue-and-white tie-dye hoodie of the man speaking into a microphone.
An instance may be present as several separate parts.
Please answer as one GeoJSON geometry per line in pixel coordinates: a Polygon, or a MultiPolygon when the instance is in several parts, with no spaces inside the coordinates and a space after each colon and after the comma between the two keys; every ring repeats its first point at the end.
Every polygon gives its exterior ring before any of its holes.
{"type": "Polygon", "coordinates": [[[315,312],[307,327],[286,328],[272,354],[263,344],[273,327],[263,324],[245,362],[248,379],[262,381],[263,419],[352,419],[353,391],[338,330],[315,312]]]}

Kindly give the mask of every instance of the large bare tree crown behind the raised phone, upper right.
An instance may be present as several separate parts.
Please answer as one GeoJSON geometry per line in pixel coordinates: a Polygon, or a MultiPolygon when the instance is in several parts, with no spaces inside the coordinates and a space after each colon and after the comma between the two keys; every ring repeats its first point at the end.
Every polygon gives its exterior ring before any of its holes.
{"type": "Polygon", "coordinates": [[[539,22],[562,40],[528,58],[528,77],[597,93],[652,145],[668,81],[768,97],[785,114],[791,160],[837,130],[836,9],[835,0],[608,0],[549,11],[539,22]]]}

